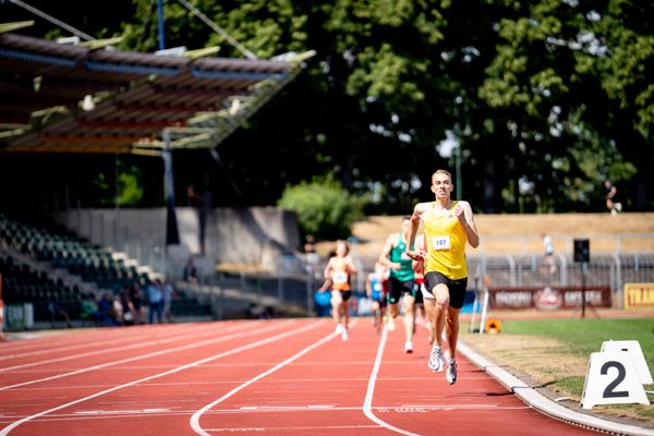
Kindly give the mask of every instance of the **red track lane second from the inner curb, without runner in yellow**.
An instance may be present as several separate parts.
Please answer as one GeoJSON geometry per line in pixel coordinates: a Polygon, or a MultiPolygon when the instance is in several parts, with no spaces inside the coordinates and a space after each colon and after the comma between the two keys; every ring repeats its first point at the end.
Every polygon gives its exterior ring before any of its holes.
{"type": "Polygon", "coordinates": [[[203,415],[205,433],[199,434],[387,433],[362,412],[374,344],[374,332],[362,319],[350,328],[350,340],[336,337],[220,402],[203,415]]]}

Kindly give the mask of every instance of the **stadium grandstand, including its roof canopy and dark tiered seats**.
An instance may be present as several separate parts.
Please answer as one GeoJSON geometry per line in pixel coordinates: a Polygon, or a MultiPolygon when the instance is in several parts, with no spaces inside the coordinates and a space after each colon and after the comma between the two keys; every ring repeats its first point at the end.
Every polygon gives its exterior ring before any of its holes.
{"type": "MultiPolygon", "coordinates": [[[[162,158],[170,187],[173,150],[216,147],[292,81],[312,56],[215,58],[217,47],[126,52],[112,47],[116,38],[55,41],[17,33],[32,24],[0,25],[0,274],[8,322],[19,319],[10,326],[19,329],[33,322],[83,323],[85,299],[99,300],[107,291],[118,295],[133,284],[145,289],[170,272],[166,266],[142,262],[152,261],[152,253],[132,258],[104,246],[105,241],[92,242],[80,233],[78,221],[56,223],[53,213],[62,205],[68,209],[68,194],[47,174],[31,174],[33,156],[162,158]],[[35,191],[43,197],[35,197],[35,191]]],[[[158,253],[179,245],[171,189],[167,199],[159,234],[165,241],[157,242],[158,253]]],[[[186,295],[184,283],[175,288],[174,319],[216,317],[211,299],[198,299],[192,290],[186,295]]]]}

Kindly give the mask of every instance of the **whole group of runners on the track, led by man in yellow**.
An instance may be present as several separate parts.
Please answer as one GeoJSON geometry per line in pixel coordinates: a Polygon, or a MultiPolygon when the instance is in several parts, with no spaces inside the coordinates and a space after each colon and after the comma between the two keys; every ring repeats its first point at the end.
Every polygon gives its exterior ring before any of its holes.
{"type": "MultiPolygon", "coordinates": [[[[384,324],[388,331],[396,329],[402,304],[405,353],[413,352],[415,326],[426,317],[432,346],[427,367],[434,372],[445,370],[452,385],[457,382],[459,313],[468,286],[465,245],[476,247],[480,238],[470,204],[451,199],[451,174],[437,170],[431,182],[435,199],[417,203],[413,213],[402,218],[400,231],[387,238],[366,277],[366,294],[373,300],[377,331],[384,324]],[[417,234],[421,227],[423,232],[417,234]]],[[[336,331],[348,340],[350,281],[358,270],[346,241],[337,241],[324,274],[320,291],[331,292],[336,331]]]]}

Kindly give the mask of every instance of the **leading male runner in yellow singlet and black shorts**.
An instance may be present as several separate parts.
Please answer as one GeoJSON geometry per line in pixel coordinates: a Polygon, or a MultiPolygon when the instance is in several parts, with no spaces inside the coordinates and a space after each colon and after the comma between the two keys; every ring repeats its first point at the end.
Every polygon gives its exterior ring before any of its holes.
{"type": "Polygon", "coordinates": [[[450,198],[453,189],[452,177],[448,171],[437,170],[432,175],[432,192],[436,201],[415,205],[407,243],[407,254],[411,258],[424,259],[426,288],[436,299],[431,317],[434,346],[427,365],[432,371],[443,371],[445,327],[449,348],[446,379],[450,385],[457,382],[459,312],[463,306],[468,286],[465,243],[470,243],[472,247],[480,244],[472,208],[468,202],[450,198]],[[411,251],[409,247],[413,246],[421,221],[425,230],[427,250],[411,251]]]}

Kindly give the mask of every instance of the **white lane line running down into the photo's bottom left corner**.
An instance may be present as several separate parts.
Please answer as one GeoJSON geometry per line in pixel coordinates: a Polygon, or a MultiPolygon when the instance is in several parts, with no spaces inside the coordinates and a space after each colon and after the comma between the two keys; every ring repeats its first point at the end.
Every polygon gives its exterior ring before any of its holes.
{"type": "Polygon", "coordinates": [[[169,370],[169,371],[165,371],[164,373],[150,375],[150,376],[147,376],[147,377],[140,378],[137,380],[133,380],[133,382],[130,382],[130,383],[118,385],[118,386],[114,386],[112,388],[102,390],[100,392],[96,392],[96,393],[89,395],[87,397],[80,398],[77,400],[66,402],[65,404],[57,405],[55,408],[45,410],[43,412],[38,412],[38,413],[32,414],[29,416],[25,416],[24,419],[15,421],[12,424],[8,425],[7,427],[2,428],[2,431],[0,431],[0,436],[7,436],[7,435],[9,435],[9,433],[12,429],[14,429],[15,427],[17,427],[19,425],[24,424],[26,422],[29,422],[29,421],[32,421],[32,420],[34,420],[36,417],[47,415],[48,413],[56,412],[58,410],[69,408],[71,405],[75,405],[75,404],[78,404],[81,402],[84,402],[84,401],[87,401],[87,400],[90,400],[90,399],[94,399],[94,398],[97,398],[97,397],[101,397],[101,396],[104,396],[106,393],[110,393],[110,392],[113,392],[113,391],[117,391],[117,390],[120,390],[120,389],[124,389],[126,387],[134,386],[134,385],[137,385],[137,384],[143,383],[143,382],[149,382],[149,380],[153,380],[155,378],[165,377],[167,375],[175,374],[175,373],[179,373],[181,371],[185,371],[185,370],[189,370],[191,367],[195,367],[195,366],[202,365],[203,363],[207,363],[207,362],[211,362],[211,361],[215,361],[215,360],[218,360],[218,359],[222,359],[222,358],[226,358],[228,355],[238,354],[240,352],[243,352],[243,351],[246,351],[246,350],[251,350],[253,348],[257,348],[257,347],[261,347],[261,346],[266,346],[266,344],[268,344],[270,342],[275,342],[275,341],[278,341],[280,339],[288,338],[289,336],[299,335],[299,334],[302,334],[304,331],[311,330],[313,328],[316,328],[320,324],[323,324],[323,322],[320,322],[320,320],[314,322],[312,324],[308,324],[308,325],[306,325],[304,327],[301,327],[301,328],[298,328],[298,329],[294,329],[294,330],[291,330],[291,331],[286,331],[283,334],[278,334],[278,335],[271,336],[271,337],[266,338],[266,339],[261,339],[258,341],[249,343],[246,346],[237,347],[237,348],[233,348],[233,349],[231,349],[229,351],[225,351],[225,352],[219,353],[219,354],[215,354],[215,355],[211,355],[211,356],[208,356],[208,358],[205,358],[205,359],[201,359],[201,360],[195,361],[195,362],[187,363],[187,364],[182,365],[182,366],[178,366],[178,367],[169,370]]]}

